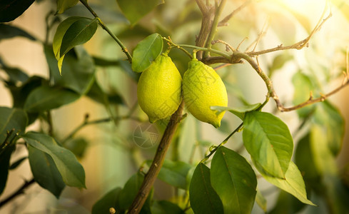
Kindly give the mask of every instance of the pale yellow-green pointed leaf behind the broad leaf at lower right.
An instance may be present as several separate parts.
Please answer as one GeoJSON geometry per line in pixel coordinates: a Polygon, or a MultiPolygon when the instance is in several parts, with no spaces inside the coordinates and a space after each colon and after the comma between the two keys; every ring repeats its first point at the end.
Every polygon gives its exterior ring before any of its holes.
{"type": "MultiPolygon", "coordinates": [[[[257,165],[256,165],[257,166],[257,165]]],[[[305,184],[300,171],[297,168],[297,165],[290,161],[290,165],[288,166],[288,170],[285,173],[285,178],[275,178],[267,175],[265,171],[257,166],[257,169],[263,175],[263,178],[267,180],[269,183],[277,186],[278,188],[285,190],[291,195],[298,198],[303,203],[308,205],[314,205],[307,198],[307,192],[305,191],[305,184]]]]}

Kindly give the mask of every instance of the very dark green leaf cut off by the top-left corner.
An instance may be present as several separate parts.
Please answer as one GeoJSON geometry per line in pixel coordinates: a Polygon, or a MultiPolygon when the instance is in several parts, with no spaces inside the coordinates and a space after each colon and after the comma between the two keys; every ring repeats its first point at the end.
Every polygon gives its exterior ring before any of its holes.
{"type": "Polygon", "coordinates": [[[34,0],[1,0],[0,22],[7,22],[16,19],[33,3],[34,0]]]}

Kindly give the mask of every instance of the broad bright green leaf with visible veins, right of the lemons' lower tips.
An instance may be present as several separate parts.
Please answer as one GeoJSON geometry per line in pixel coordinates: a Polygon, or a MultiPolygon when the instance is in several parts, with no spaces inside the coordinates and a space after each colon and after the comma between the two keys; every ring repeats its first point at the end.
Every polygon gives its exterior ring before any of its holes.
{"type": "Polygon", "coordinates": [[[283,121],[271,113],[252,111],[243,121],[243,143],[258,165],[270,175],[285,178],[293,139],[283,121]]]}

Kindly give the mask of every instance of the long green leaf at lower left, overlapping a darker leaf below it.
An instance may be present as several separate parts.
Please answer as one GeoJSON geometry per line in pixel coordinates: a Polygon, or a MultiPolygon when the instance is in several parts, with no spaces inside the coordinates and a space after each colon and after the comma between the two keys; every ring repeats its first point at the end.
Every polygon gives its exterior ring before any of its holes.
{"type": "Polygon", "coordinates": [[[66,185],[86,188],[84,168],[71,151],[59,146],[54,138],[43,133],[29,132],[22,137],[29,146],[51,156],[66,185]]]}

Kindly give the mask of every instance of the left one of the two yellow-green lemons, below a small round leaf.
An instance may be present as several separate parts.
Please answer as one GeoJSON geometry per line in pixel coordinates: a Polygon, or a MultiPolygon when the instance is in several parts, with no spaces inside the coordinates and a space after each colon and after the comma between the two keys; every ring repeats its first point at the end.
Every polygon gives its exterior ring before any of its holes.
{"type": "Polygon", "coordinates": [[[151,123],[173,114],[181,103],[181,73],[167,54],[159,55],[138,80],[137,96],[151,123]]]}

